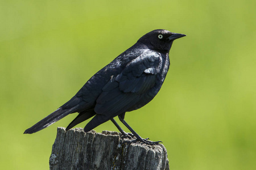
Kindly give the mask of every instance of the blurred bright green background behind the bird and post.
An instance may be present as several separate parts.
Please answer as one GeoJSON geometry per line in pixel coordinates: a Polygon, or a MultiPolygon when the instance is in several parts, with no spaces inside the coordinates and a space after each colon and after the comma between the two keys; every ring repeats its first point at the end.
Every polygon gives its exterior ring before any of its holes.
{"type": "MultiPolygon", "coordinates": [[[[1,1],[1,169],[48,169],[57,126],[66,127],[76,114],[32,135],[24,130],[158,28],[187,37],[172,45],[162,90],[127,113],[126,121],[142,137],[163,141],[171,169],[254,169],[255,5],[255,0],[1,1]]],[[[112,122],[95,130],[117,131],[112,122]]]]}

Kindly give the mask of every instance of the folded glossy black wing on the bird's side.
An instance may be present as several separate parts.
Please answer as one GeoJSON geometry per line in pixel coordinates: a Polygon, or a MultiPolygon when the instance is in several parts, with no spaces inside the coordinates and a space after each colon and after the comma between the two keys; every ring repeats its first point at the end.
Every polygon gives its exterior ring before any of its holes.
{"type": "Polygon", "coordinates": [[[147,51],[133,59],[102,88],[94,111],[106,117],[126,112],[139,101],[139,96],[155,86],[161,67],[162,57],[157,52],[147,51]]]}

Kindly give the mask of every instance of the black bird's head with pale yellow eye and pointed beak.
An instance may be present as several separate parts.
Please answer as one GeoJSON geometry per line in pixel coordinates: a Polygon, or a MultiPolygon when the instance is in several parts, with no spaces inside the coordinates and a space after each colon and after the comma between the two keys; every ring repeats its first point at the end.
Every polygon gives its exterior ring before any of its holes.
{"type": "Polygon", "coordinates": [[[165,29],[155,29],[143,35],[138,42],[148,46],[152,50],[168,53],[171,49],[172,42],[184,36],[186,35],[170,32],[165,29]]]}

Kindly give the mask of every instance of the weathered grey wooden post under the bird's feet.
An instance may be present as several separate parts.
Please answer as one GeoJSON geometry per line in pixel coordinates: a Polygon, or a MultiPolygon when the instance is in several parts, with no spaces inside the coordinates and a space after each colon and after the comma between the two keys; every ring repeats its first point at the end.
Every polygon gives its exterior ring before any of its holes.
{"type": "Polygon", "coordinates": [[[170,169],[166,148],[121,139],[115,131],[84,133],[82,128],[57,129],[50,169],[170,169]]]}

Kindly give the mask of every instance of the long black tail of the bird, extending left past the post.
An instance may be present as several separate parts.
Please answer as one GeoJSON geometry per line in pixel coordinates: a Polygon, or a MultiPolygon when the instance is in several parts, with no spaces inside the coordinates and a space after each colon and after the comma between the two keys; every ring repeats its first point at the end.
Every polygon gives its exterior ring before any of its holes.
{"type": "Polygon", "coordinates": [[[70,109],[62,109],[61,107],[57,109],[55,112],[49,114],[47,117],[43,118],[43,120],[40,120],[37,124],[32,126],[31,128],[28,128],[24,131],[24,134],[31,134],[35,133],[36,131],[42,130],[44,128],[47,128],[49,125],[55,123],[56,121],[59,121],[61,118],[67,116],[69,113],[73,113],[79,105],[76,105],[76,107],[70,108],[70,109]]]}

